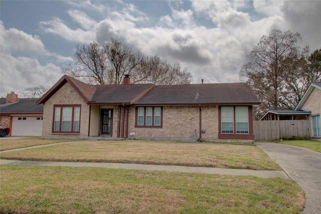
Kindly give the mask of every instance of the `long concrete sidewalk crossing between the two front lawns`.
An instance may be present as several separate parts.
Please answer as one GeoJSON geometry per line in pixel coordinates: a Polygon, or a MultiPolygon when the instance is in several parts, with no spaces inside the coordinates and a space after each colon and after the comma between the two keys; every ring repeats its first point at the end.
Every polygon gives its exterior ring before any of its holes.
{"type": "Polygon", "coordinates": [[[168,166],[168,165],[147,165],[133,163],[90,163],[90,162],[50,162],[50,161],[22,161],[1,159],[0,164],[20,164],[39,166],[71,166],[71,167],[103,167],[114,169],[141,169],[170,172],[205,173],[205,174],[225,174],[225,175],[253,175],[257,177],[281,177],[289,179],[283,171],[262,171],[250,169],[225,169],[213,167],[193,167],[193,166],[168,166]]]}

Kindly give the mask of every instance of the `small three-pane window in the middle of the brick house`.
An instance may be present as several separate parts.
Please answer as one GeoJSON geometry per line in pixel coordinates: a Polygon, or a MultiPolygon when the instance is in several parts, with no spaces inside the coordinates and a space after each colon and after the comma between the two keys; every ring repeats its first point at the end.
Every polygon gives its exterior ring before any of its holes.
{"type": "Polygon", "coordinates": [[[136,126],[162,127],[162,107],[137,107],[136,126]]]}

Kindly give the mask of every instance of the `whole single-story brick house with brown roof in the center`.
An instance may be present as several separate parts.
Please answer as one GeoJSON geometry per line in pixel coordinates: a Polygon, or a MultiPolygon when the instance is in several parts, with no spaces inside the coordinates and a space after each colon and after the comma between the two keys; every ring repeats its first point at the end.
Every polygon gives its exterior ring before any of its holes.
{"type": "Polygon", "coordinates": [[[155,86],[88,85],[63,76],[44,104],[43,137],[253,141],[253,105],[246,83],[155,86]]]}

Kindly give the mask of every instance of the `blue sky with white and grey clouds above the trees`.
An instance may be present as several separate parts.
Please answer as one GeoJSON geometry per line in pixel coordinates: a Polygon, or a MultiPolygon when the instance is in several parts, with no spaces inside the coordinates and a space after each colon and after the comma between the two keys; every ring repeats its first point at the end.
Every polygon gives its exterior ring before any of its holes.
{"type": "Polygon", "coordinates": [[[180,62],[194,83],[238,82],[245,55],[276,28],[321,48],[321,1],[0,1],[1,91],[53,86],[77,44],[111,37],[180,62]]]}

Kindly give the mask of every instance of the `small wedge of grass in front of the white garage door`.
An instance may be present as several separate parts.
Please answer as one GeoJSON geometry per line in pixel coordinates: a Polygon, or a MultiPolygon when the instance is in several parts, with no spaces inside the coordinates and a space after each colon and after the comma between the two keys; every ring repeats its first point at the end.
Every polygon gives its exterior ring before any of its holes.
{"type": "Polygon", "coordinates": [[[6,151],[10,149],[19,149],[30,146],[39,146],[60,142],[72,141],[70,139],[59,139],[59,140],[50,140],[42,139],[40,137],[30,137],[30,138],[21,138],[21,139],[2,139],[0,141],[0,151],[6,151]]]}

